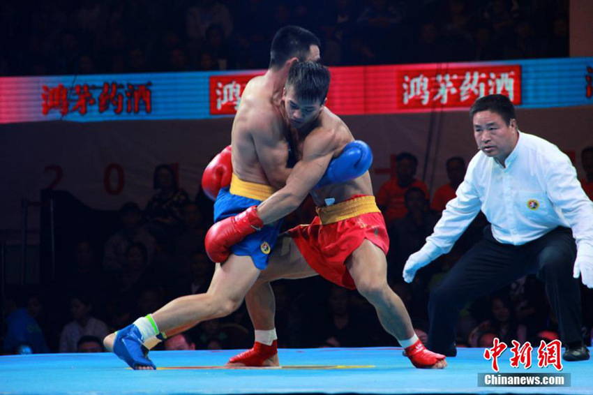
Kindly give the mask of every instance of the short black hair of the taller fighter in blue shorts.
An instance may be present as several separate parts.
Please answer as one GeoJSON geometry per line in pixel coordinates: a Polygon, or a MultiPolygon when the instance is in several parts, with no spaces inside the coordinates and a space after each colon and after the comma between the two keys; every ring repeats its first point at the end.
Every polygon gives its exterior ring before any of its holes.
{"type": "Polygon", "coordinates": [[[320,46],[315,34],[298,26],[283,27],[272,40],[269,68],[280,68],[292,57],[304,61],[311,45],[320,46]]]}

